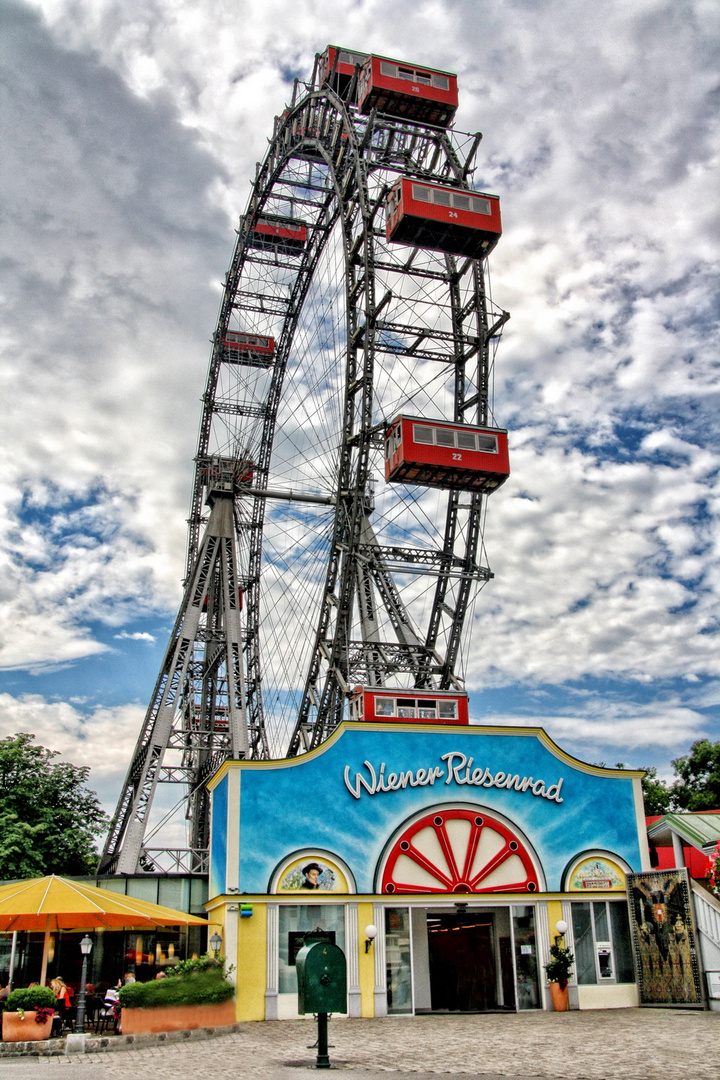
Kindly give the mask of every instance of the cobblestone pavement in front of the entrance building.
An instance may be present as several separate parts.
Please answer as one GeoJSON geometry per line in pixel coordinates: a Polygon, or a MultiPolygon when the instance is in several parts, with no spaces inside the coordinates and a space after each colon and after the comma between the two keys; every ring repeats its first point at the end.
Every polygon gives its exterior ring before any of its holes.
{"type": "MultiPolygon", "coordinates": [[[[243,1024],[208,1041],[0,1062],[0,1080],[308,1080],[315,1026],[243,1024]]],[[[603,1010],[331,1021],[342,1080],[720,1080],[720,1013],[603,1010]]],[[[325,1075],[324,1072],[321,1075],[325,1075]]]]}

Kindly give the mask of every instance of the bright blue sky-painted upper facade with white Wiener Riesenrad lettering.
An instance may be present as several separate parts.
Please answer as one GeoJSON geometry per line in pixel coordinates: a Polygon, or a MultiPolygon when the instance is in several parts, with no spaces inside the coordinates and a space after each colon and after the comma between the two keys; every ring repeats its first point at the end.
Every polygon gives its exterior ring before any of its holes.
{"type": "MultiPolygon", "coordinates": [[[[512,822],[534,849],[549,890],[560,888],[570,860],[589,849],[641,868],[633,781],[583,770],[538,732],[355,725],[293,766],[239,768],[241,892],[267,892],[277,865],[302,849],[339,856],[357,891],[373,892],[394,834],[421,810],[443,806],[481,807],[512,822]],[[510,777],[518,778],[514,786],[502,786],[510,777]]],[[[225,784],[219,791],[213,821],[225,836],[225,784]]],[[[214,887],[220,878],[214,869],[214,887]]]]}

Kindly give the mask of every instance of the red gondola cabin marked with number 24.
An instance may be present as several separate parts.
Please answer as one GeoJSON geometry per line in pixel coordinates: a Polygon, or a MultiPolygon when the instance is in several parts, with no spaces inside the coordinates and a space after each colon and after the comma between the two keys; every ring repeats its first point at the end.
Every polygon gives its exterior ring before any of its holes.
{"type": "Polygon", "coordinates": [[[484,259],[501,234],[498,195],[405,177],[388,195],[385,238],[394,243],[484,259]]]}

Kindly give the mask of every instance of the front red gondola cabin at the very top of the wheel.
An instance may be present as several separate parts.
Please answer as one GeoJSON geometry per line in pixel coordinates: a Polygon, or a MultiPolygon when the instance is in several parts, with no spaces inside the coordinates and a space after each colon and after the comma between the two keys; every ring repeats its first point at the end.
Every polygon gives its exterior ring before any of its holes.
{"type": "Polygon", "coordinates": [[[369,56],[357,84],[357,108],[447,127],[458,109],[458,77],[418,68],[383,56],[369,56]]]}

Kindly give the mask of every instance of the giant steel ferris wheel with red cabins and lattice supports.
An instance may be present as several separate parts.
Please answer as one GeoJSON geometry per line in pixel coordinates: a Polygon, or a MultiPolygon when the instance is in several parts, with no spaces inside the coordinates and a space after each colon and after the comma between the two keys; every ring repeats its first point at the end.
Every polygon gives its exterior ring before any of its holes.
{"type": "Polygon", "coordinates": [[[490,390],[508,316],[485,262],[499,204],[475,192],[480,135],[449,126],[456,104],[448,72],[328,48],[275,119],[106,873],[203,873],[208,775],[317,746],[355,687],[463,693],[486,498],[507,474],[490,390]],[[178,807],[187,840],[158,840],[178,807]]]}

